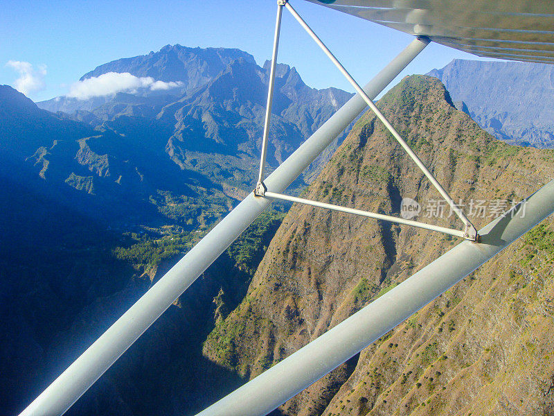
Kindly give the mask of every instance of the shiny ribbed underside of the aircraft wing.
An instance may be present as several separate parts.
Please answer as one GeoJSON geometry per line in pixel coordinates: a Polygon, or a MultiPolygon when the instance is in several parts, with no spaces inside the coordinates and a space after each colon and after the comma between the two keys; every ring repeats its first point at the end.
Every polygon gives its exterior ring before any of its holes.
{"type": "Polygon", "coordinates": [[[554,63],[551,0],[307,0],[474,55],[554,63]]]}

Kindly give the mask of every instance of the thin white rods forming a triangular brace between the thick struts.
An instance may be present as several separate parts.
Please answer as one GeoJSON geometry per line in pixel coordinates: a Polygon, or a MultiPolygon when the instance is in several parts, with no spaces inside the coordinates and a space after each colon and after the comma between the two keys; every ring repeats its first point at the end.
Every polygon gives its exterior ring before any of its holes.
{"type": "MultiPolygon", "coordinates": [[[[431,182],[431,184],[435,187],[435,189],[438,191],[438,193],[440,193],[441,196],[443,196],[443,198],[445,198],[445,201],[448,203],[448,205],[450,206],[450,208],[452,209],[452,211],[456,214],[456,216],[458,216],[458,218],[460,218],[463,223],[464,223],[464,230],[463,232],[459,232],[459,233],[456,233],[456,234],[453,234],[452,233],[452,230],[450,230],[449,232],[446,232],[446,234],[451,234],[451,235],[455,235],[455,236],[461,236],[467,240],[470,240],[470,241],[476,241],[478,238],[479,238],[479,235],[477,234],[477,231],[474,227],[474,225],[471,223],[471,221],[465,216],[465,214],[463,214],[463,211],[460,209],[460,207],[458,207],[458,205],[456,205],[456,202],[454,202],[454,200],[449,196],[449,194],[447,193],[447,191],[443,188],[443,186],[440,184],[440,182],[438,182],[438,180],[436,180],[436,178],[434,177],[434,175],[429,171],[429,169],[427,168],[427,166],[425,166],[425,164],[421,161],[421,159],[418,157],[418,155],[415,154],[415,152],[410,148],[410,146],[406,143],[406,141],[404,141],[404,139],[402,139],[402,137],[400,136],[400,134],[396,131],[396,129],[393,127],[393,125],[390,123],[390,121],[388,121],[388,119],[386,119],[386,117],[384,116],[384,114],[382,114],[382,112],[377,108],[377,106],[375,105],[375,103],[373,103],[373,101],[371,100],[371,98],[368,97],[368,95],[364,92],[364,89],[362,89],[359,84],[356,82],[356,80],[354,78],[352,78],[352,76],[350,75],[350,73],[348,73],[348,71],[346,70],[346,68],[343,67],[343,65],[341,64],[341,62],[339,62],[339,60],[333,55],[333,53],[328,49],[327,46],[325,46],[325,44],[321,41],[321,39],[319,39],[319,37],[316,35],[316,33],[314,31],[312,31],[312,28],[310,28],[310,26],[304,21],[304,19],[302,19],[302,17],[300,15],[298,15],[298,12],[296,12],[296,10],[294,10],[294,8],[290,5],[289,1],[285,1],[285,0],[279,0],[279,4],[282,4],[282,3],[285,3],[285,7],[287,8],[287,10],[289,10],[289,12],[291,12],[292,16],[294,17],[294,19],[296,19],[296,21],[298,21],[298,23],[305,29],[305,31],[308,33],[308,35],[310,35],[310,37],[312,37],[312,39],[314,40],[314,42],[316,42],[316,44],[323,50],[323,52],[325,53],[325,55],[328,56],[328,58],[331,60],[331,62],[333,62],[333,64],[339,69],[339,71],[341,71],[341,73],[343,74],[343,76],[346,78],[346,80],[348,80],[348,82],[350,83],[350,85],[352,85],[352,87],[355,88],[356,92],[358,94],[360,94],[360,96],[362,98],[364,98],[364,101],[366,101],[366,104],[370,107],[370,109],[375,113],[375,115],[377,116],[377,118],[382,121],[382,123],[385,125],[386,129],[391,132],[391,135],[393,135],[393,137],[396,139],[396,141],[400,144],[400,146],[402,146],[402,148],[404,149],[404,151],[409,155],[409,157],[411,157],[411,159],[413,160],[413,162],[415,162],[415,164],[418,166],[418,168],[420,168],[420,170],[424,173],[424,175],[427,177],[427,180],[429,180],[429,182],[431,182]]],[[[280,25],[280,17],[278,15],[278,24],[280,25]]],[[[278,31],[278,28],[276,26],[276,33],[278,31]]],[[[275,37],[275,42],[278,43],[278,37],[275,37]]],[[[276,45],[274,45],[274,60],[276,59],[276,45]]],[[[274,62],[273,62],[274,63],[274,62]]],[[[274,89],[274,85],[273,84],[269,84],[269,93],[268,93],[268,97],[272,97],[273,96],[273,89],[274,89]]],[[[268,99],[268,103],[269,103],[269,99],[268,99]]],[[[269,110],[267,110],[269,111],[269,110]]],[[[268,116],[267,116],[267,113],[266,113],[266,123],[269,123],[268,122],[268,116]]],[[[265,131],[266,132],[266,131],[265,131]]],[[[267,135],[265,135],[265,132],[264,132],[264,139],[263,139],[263,144],[262,144],[262,155],[261,155],[261,162],[260,162],[260,174],[258,176],[258,184],[256,185],[256,189],[255,189],[255,192],[258,196],[265,196],[265,191],[267,191],[267,187],[265,186],[265,184],[263,183],[263,167],[265,166],[265,157],[266,157],[266,153],[265,153],[265,149],[267,148],[267,145],[266,145],[266,141],[267,141],[267,135]]],[[[271,189],[271,191],[273,191],[271,189]]],[[[282,198],[284,197],[283,195],[280,196],[281,199],[285,199],[285,198],[282,198]]],[[[274,198],[279,198],[278,196],[274,196],[274,198]]],[[[298,200],[297,202],[300,202],[300,203],[303,203],[301,200],[298,200]]],[[[322,206],[322,205],[320,205],[322,206]]],[[[339,207],[337,205],[329,205],[329,207],[333,207],[332,209],[337,209],[337,210],[341,210],[341,208],[343,207],[339,207]]],[[[367,211],[365,211],[366,214],[370,214],[368,213],[367,211]]],[[[357,214],[355,212],[351,212],[352,214],[357,214]]],[[[369,215],[365,215],[365,216],[369,216],[369,215]]],[[[391,219],[390,218],[395,218],[395,217],[390,217],[390,216],[386,216],[388,218],[380,218],[382,220],[386,220],[386,221],[390,221],[391,219]]],[[[373,216],[373,218],[376,218],[375,216],[373,216]]],[[[400,220],[393,220],[393,222],[395,223],[402,223],[402,221],[400,220]]],[[[415,225],[413,223],[418,223],[418,221],[411,221],[411,223],[405,223],[404,224],[408,224],[408,225],[413,225],[415,227],[420,227],[420,228],[426,228],[426,229],[429,229],[429,227],[427,226],[427,224],[424,224],[422,223],[422,225],[415,225]]],[[[440,231],[440,232],[444,232],[442,229],[445,229],[444,227],[436,227],[435,228],[435,231],[440,231]]]]}

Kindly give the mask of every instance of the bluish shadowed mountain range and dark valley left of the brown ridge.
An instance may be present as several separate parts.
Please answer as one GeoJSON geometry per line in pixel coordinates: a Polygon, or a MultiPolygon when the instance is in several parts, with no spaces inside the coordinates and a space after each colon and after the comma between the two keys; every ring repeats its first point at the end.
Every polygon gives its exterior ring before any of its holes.
{"type": "MultiPolygon", "coordinates": [[[[21,410],[253,189],[268,70],[267,63],[258,67],[242,51],[176,45],[111,62],[83,78],[127,71],[181,83],[163,93],[143,89],[88,100],[60,97],[50,101],[57,108],[39,103],[51,112],[0,86],[1,313],[7,325],[1,339],[10,346],[0,354],[2,415],[21,410]]],[[[285,64],[278,65],[276,87],[268,171],[351,96],[307,87],[285,64]]],[[[225,377],[202,358],[201,339],[179,339],[187,332],[202,338],[209,330],[215,319],[212,300],[222,288],[226,304],[240,302],[279,218],[276,212],[260,220],[168,311],[175,320],[168,325],[162,318],[166,324],[145,335],[141,342],[150,345],[161,331],[169,348],[158,356],[163,363],[144,364],[150,367],[145,379],[157,383],[162,368],[178,367],[225,377]],[[190,308],[198,311],[196,318],[184,313],[190,308]],[[191,361],[196,370],[188,367],[191,361]]],[[[125,357],[149,361],[145,345],[125,357]]],[[[148,383],[136,384],[129,371],[134,365],[121,366],[113,371],[127,374],[128,388],[107,374],[90,400],[84,397],[71,411],[133,415],[165,409],[174,414],[199,410],[213,397],[190,399],[210,391],[202,379],[176,384],[169,377],[165,387],[151,391],[148,383]],[[172,389],[184,398],[162,405],[159,398],[174,396],[172,389]]],[[[239,379],[226,378],[235,384],[239,379]]]]}

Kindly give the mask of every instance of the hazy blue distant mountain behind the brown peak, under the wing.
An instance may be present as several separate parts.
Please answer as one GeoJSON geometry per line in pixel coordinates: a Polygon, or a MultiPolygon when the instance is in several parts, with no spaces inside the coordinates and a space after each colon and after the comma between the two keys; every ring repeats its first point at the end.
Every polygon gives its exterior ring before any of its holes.
{"type": "Polygon", "coordinates": [[[453,60],[428,73],[452,100],[498,139],[554,147],[554,66],[530,62],[453,60]]]}

